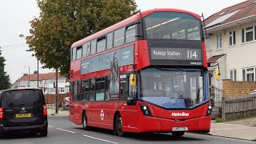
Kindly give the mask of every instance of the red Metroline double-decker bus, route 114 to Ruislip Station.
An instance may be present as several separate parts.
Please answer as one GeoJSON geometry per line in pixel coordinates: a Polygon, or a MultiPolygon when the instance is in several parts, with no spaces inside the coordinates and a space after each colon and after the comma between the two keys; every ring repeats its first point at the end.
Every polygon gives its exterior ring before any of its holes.
{"type": "Polygon", "coordinates": [[[146,10],[74,42],[70,121],[126,132],[210,130],[202,21],[186,10],[146,10]]]}

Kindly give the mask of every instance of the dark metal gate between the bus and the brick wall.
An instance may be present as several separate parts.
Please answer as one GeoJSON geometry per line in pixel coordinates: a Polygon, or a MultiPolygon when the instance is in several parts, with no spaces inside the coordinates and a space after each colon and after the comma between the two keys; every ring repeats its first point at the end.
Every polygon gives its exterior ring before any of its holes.
{"type": "Polygon", "coordinates": [[[212,105],[211,118],[220,118],[222,116],[222,89],[210,86],[210,103],[212,105]]]}

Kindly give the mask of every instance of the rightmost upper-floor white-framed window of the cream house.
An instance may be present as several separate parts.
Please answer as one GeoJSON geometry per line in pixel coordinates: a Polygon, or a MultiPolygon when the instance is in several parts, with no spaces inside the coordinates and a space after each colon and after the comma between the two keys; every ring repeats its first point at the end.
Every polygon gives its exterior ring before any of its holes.
{"type": "Polygon", "coordinates": [[[255,26],[242,29],[242,42],[250,42],[255,39],[255,26]]]}

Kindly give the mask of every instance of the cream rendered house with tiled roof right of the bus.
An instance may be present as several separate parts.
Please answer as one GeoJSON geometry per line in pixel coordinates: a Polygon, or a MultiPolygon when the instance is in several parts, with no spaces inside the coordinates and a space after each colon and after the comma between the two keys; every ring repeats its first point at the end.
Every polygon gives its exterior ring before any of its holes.
{"type": "MultiPolygon", "coordinates": [[[[222,79],[255,82],[256,0],[247,0],[206,18],[208,62],[219,64],[222,79]]],[[[209,68],[210,85],[222,87],[209,68]]]]}

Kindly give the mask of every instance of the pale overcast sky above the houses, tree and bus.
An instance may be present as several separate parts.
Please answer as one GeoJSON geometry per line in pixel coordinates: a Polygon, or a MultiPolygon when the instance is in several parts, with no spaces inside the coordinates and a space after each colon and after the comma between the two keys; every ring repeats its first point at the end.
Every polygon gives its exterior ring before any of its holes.
{"type": "MultiPolygon", "coordinates": [[[[207,18],[211,14],[228,6],[233,6],[245,0],[135,0],[140,10],[154,8],[175,8],[204,14],[207,18]]],[[[10,75],[11,82],[21,78],[23,74],[30,74],[37,70],[37,59],[28,52],[26,40],[19,35],[29,35],[30,21],[37,18],[40,11],[36,0],[1,0],[0,1],[0,47],[2,56],[6,58],[5,71],[10,75]]],[[[42,69],[39,64],[39,73],[54,72],[42,69]]]]}

